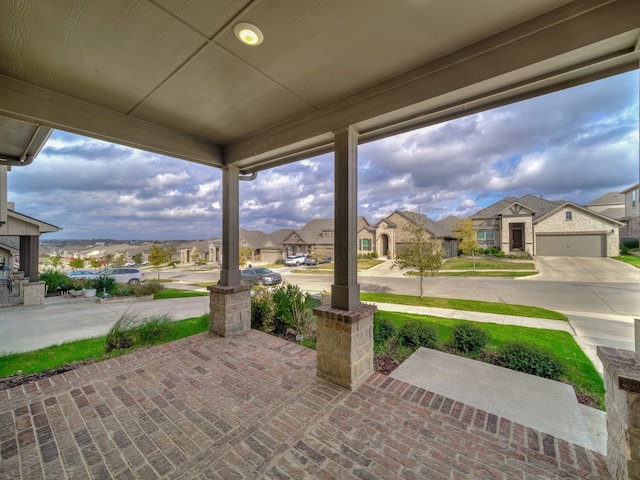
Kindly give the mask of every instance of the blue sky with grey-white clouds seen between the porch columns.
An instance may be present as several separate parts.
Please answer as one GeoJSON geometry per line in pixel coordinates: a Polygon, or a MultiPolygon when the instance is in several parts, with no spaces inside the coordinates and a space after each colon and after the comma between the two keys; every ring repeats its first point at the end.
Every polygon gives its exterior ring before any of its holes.
{"type": "MultiPolygon", "coordinates": [[[[638,182],[638,72],[361,145],[359,214],[465,217],[505,196],[585,204],[638,182]]],[[[206,239],[221,235],[213,167],[53,133],[8,175],[16,210],[63,230],[43,239],[206,239]]],[[[333,156],[240,184],[240,222],[271,233],[333,216],[333,156]]]]}

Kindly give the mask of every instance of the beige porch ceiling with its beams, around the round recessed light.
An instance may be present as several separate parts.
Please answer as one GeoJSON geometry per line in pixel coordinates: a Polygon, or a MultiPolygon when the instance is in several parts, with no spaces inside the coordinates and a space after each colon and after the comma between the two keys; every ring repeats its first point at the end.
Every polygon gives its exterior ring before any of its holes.
{"type": "Polygon", "coordinates": [[[635,0],[22,0],[0,18],[5,164],[40,125],[31,150],[55,128],[242,173],[348,125],[362,143],[638,68],[640,34],[635,0]]]}

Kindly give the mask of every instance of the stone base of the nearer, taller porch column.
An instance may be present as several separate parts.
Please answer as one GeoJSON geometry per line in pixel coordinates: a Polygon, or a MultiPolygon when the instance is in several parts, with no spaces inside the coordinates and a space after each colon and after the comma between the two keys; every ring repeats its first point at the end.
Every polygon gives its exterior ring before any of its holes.
{"type": "Polygon", "coordinates": [[[349,390],[356,390],[373,373],[374,305],[360,304],[354,310],[330,305],[313,309],[317,319],[316,372],[349,390]]]}

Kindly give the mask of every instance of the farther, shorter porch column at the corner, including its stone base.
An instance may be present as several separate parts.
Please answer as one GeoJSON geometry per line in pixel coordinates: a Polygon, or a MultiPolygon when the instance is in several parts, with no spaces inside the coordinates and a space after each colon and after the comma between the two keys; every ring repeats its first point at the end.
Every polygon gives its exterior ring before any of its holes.
{"type": "Polygon", "coordinates": [[[208,287],[209,330],[228,337],[251,329],[251,286],[240,281],[240,175],[222,169],[222,270],[220,284],[208,287]]]}

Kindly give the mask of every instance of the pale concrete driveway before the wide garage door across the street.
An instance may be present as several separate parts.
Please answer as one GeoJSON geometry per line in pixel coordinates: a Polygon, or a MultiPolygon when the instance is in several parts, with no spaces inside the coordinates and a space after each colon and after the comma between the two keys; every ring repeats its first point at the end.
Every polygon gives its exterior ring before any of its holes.
{"type": "Polygon", "coordinates": [[[540,272],[530,281],[546,280],[583,283],[640,283],[640,268],[612,258],[536,257],[540,272]]]}

